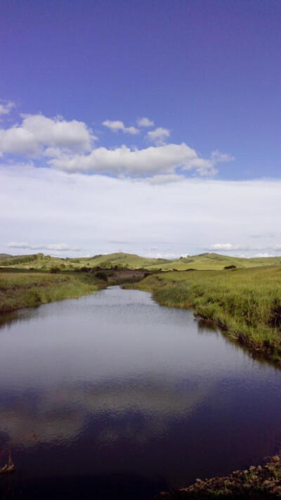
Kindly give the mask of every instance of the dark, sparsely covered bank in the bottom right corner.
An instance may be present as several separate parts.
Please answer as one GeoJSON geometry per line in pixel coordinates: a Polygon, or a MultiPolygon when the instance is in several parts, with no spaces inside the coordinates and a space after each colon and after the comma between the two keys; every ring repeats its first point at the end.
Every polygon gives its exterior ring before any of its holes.
{"type": "Polygon", "coordinates": [[[235,470],[225,477],[197,479],[194,485],[162,492],[155,500],[274,499],[281,497],[281,460],[275,455],[264,466],[235,470]]]}

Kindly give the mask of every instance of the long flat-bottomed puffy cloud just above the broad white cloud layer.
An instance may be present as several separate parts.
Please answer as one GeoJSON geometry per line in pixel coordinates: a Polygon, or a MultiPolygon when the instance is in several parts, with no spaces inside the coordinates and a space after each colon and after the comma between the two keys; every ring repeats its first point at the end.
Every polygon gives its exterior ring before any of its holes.
{"type": "MultiPolygon", "coordinates": [[[[131,149],[127,146],[107,149],[96,148],[89,155],[58,155],[48,164],[66,172],[86,172],[133,177],[174,174],[195,170],[200,175],[214,174],[214,160],[200,158],[196,151],[185,143],[150,146],[131,149]]],[[[180,179],[180,177],[178,177],[180,179]]]]}

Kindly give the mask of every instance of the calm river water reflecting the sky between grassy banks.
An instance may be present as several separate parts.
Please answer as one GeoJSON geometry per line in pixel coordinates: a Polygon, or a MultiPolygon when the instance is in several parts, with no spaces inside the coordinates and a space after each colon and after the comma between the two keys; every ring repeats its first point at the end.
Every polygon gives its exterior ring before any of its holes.
{"type": "Polygon", "coordinates": [[[192,312],[112,287],[7,320],[0,447],[17,473],[1,487],[12,497],[145,500],[280,448],[281,371],[192,312]]]}

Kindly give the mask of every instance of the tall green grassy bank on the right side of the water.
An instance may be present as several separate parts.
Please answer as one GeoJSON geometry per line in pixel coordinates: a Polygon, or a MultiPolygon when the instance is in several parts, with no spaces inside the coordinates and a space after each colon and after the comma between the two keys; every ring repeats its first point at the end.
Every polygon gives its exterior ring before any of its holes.
{"type": "Polygon", "coordinates": [[[281,364],[281,266],[177,271],[148,276],[134,288],[169,307],[192,307],[226,334],[281,364]]]}

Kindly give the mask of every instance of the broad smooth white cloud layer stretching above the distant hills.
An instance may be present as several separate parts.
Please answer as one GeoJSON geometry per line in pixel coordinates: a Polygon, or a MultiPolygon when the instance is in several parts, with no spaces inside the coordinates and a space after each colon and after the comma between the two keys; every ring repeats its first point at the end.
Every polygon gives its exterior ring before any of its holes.
{"type": "MultiPolygon", "coordinates": [[[[70,248],[86,248],[87,254],[96,255],[116,251],[120,244],[115,242],[129,241],[132,253],[142,255],[157,246],[159,255],[187,255],[201,253],[208,242],[217,242],[247,248],[229,250],[230,255],[278,255],[280,212],[281,181],[276,180],[207,177],[151,184],[145,179],[98,174],[70,176],[24,165],[0,167],[2,245],[8,241],[39,242],[40,246],[67,242],[70,248]],[[249,232],[276,236],[261,236],[259,247],[267,250],[253,250],[249,232]]],[[[125,244],[122,250],[126,251],[125,244]]],[[[64,255],[84,252],[69,250],[64,255]]],[[[14,253],[20,253],[19,249],[14,248],[14,253]]]]}

